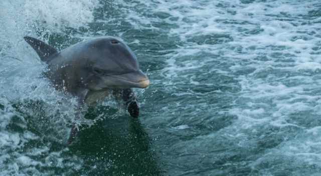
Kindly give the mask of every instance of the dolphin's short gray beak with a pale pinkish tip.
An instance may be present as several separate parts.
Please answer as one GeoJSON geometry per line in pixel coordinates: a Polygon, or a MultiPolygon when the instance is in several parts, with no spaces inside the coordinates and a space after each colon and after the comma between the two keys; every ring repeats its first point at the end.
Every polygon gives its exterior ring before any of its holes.
{"type": "Polygon", "coordinates": [[[125,74],[112,75],[112,77],[118,79],[119,83],[124,87],[146,88],[149,85],[147,75],[140,69],[125,74]]]}

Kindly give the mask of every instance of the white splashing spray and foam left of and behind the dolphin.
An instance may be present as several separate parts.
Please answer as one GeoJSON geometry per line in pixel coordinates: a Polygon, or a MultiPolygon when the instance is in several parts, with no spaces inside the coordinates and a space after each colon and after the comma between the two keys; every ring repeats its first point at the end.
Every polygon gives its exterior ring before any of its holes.
{"type": "Polygon", "coordinates": [[[93,20],[93,10],[98,5],[98,0],[0,1],[0,105],[5,106],[0,109],[0,175],[25,175],[27,172],[47,175],[38,169],[49,165],[81,167],[82,160],[77,156],[52,153],[48,148],[50,143],[38,145],[47,141],[45,137],[50,141],[65,141],[74,114],[70,107],[76,101],[56,91],[41,76],[46,65],[27,47],[23,36],[42,38],[37,36],[37,31],[51,34],[67,27],[86,27],[93,20]],[[15,103],[18,107],[13,107],[15,103]],[[29,130],[30,125],[37,134],[29,130]],[[31,145],[35,140],[38,144],[31,145]],[[57,162],[50,164],[42,159],[49,155],[57,162]]]}

